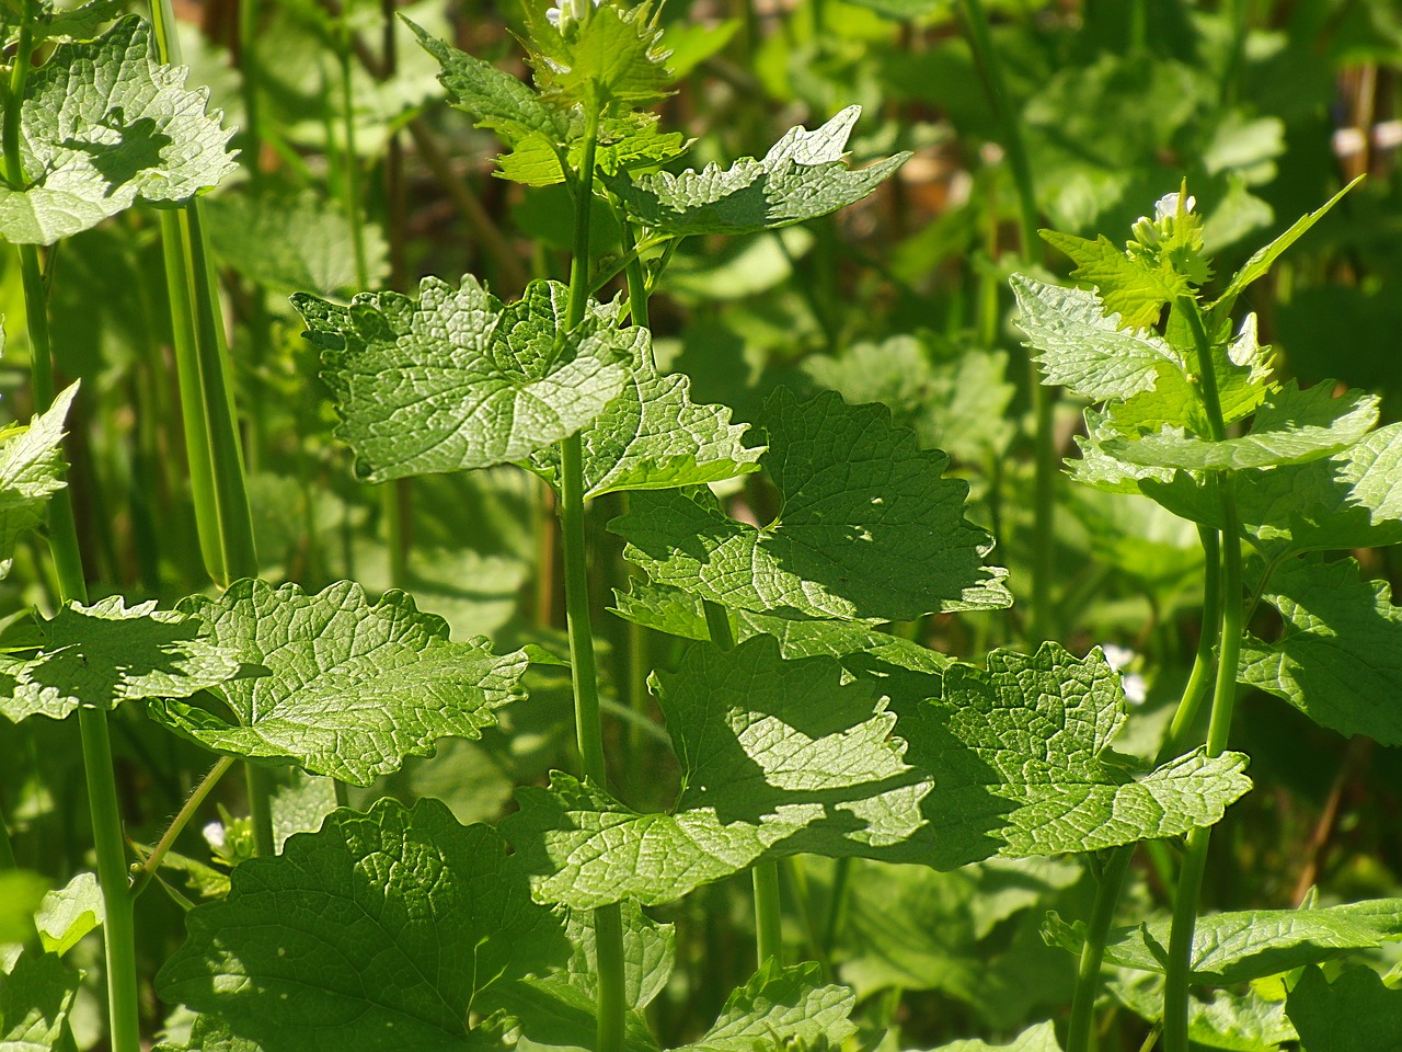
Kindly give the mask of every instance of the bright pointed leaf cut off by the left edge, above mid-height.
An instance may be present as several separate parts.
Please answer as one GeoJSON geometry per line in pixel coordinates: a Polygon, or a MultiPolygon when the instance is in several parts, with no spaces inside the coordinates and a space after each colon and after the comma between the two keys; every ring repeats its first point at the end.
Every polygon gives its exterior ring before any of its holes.
{"type": "Polygon", "coordinates": [[[0,578],[10,572],[20,534],[43,523],[49,495],[66,485],[63,419],[77,391],[76,383],[67,387],[28,426],[0,431],[0,578]]]}

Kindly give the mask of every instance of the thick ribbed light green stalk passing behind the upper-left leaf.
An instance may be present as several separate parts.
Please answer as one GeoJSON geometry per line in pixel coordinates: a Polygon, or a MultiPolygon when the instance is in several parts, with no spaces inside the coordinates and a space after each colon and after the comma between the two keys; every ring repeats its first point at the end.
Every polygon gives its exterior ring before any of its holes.
{"type": "MultiPolygon", "coordinates": [[[[151,21],[161,62],[178,63],[171,0],[153,0],[151,21]]],[[[258,576],[258,554],[215,274],[198,201],[163,209],[160,222],[195,520],[210,578],[227,588],[237,578],[258,576]]],[[[269,773],[254,763],[244,771],[255,850],[273,854],[269,773]]]]}

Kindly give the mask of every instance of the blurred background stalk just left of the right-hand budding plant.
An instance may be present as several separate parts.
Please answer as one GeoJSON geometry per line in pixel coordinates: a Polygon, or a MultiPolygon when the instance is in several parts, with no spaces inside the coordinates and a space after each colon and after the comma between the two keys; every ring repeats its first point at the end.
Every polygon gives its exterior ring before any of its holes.
{"type": "MultiPolygon", "coordinates": [[[[988,102],[1002,125],[1008,164],[1018,191],[1018,231],[1022,241],[1022,258],[1032,262],[1037,245],[1037,198],[1032,184],[1032,163],[1022,142],[1022,128],[1018,115],[1008,108],[1008,90],[1002,80],[1002,67],[993,49],[993,34],[988,31],[988,15],[981,0],[962,0],[965,22],[969,27],[969,43],[983,74],[988,102]]],[[[1053,419],[1053,391],[1040,383],[1036,363],[1029,360],[1032,386],[1032,414],[1035,421],[1035,488],[1032,525],[1032,626],[1030,637],[1044,640],[1052,634],[1052,572],[1053,572],[1053,518],[1056,512],[1057,456],[1053,419]]]]}

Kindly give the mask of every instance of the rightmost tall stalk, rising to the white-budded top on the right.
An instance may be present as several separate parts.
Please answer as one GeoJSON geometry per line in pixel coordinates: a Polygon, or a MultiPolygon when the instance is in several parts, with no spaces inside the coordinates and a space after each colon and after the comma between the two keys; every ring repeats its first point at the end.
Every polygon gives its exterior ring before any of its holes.
{"type": "MultiPolygon", "coordinates": [[[[1227,426],[1217,393],[1217,375],[1213,370],[1211,341],[1203,327],[1202,313],[1197,304],[1186,296],[1179,297],[1173,309],[1183,316],[1193,334],[1203,407],[1207,410],[1213,439],[1221,442],[1227,438],[1227,426]]],[[[1211,721],[1207,728],[1209,757],[1220,756],[1227,749],[1237,700],[1237,663],[1241,656],[1242,631],[1241,533],[1237,525],[1235,476],[1231,471],[1217,473],[1217,485],[1223,515],[1221,642],[1218,645],[1217,680],[1213,689],[1211,721]]],[[[1187,850],[1178,877],[1164,983],[1164,1048],[1166,1052],[1187,1052],[1187,987],[1193,931],[1197,927],[1197,901],[1202,895],[1210,843],[1211,826],[1199,826],[1187,835],[1187,850]]]]}

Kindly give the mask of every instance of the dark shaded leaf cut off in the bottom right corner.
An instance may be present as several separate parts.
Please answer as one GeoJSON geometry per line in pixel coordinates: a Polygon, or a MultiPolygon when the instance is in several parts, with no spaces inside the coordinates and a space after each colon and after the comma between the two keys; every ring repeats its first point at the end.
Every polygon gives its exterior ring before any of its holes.
{"type": "Polygon", "coordinates": [[[1308,968],[1286,999],[1286,1014],[1309,1052],[1395,1052],[1402,1034],[1402,990],[1371,968],[1350,968],[1332,983],[1308,968]]]}

